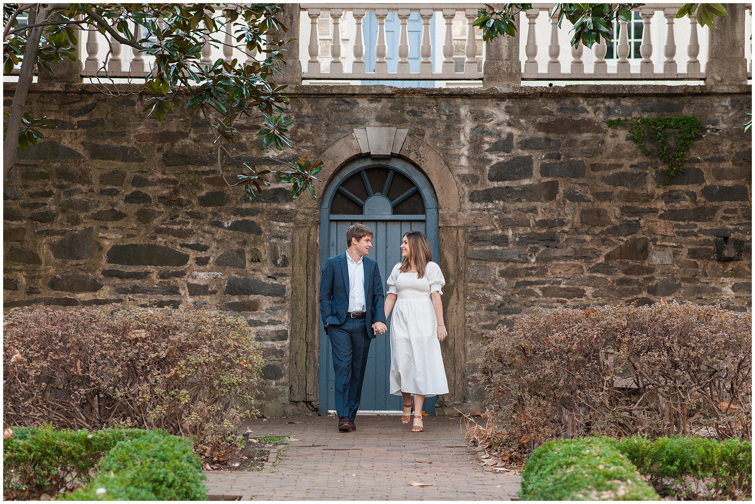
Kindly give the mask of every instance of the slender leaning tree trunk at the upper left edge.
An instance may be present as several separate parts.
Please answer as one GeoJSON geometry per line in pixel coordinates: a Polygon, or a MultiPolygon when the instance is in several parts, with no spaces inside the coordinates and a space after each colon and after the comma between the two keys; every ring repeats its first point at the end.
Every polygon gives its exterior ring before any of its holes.
{"type": "MultiPolygon", "coordinates": [[[[51,4],[42,4],[45,7],[39,9],[35,22],[44,22],[52,11],[51,4]]],[[[38,7],[33,7],[35,9],[38,7]]],[[[30,13],[31,14],[31,13],[30,13]]],[[[30,16],[31,17],[31,16],[30,16]]],[[[39,39],[42,38],[42,31],[45,26],[32,28],[29,38],[26,41],[26,54],[21,60],[21,71],[18,74],[18,84],[16,94],[13,97],[11,105],[11,117],[8,118],[8,130],[5,132],[5,141],[3,142],[3,179],[8,179],[11,168],[16,162],[16,149],[18,148],[18,134],[21,131],[21,118],[23,117],[23,108],[26,105],[26,96],[29,94],[29,88],[32,85],[34,77],[34,67],[36,66],[37,54],[39,53],[39,39]]]]}

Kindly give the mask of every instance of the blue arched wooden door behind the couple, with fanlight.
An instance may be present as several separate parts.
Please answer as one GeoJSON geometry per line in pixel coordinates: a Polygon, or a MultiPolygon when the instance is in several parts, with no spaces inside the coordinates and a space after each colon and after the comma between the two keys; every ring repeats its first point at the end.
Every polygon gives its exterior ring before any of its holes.
{"type": "MultiPolygon", "coordinates": [[[[377,261],[385,281],[401,260],[401,238],[419,229],[427,235],[433,260],[438,260],[438,200],[427,177],[414,165],[399,158],[362,158],[338,172],[325,189],[320,209],[320,264],[347,249],[346,230],[362,223],[374,232],[371,259],[377,261]]],[[[390,320],[389,320],[390,327],[390,320]]],[[[319,321],[319,400],[320,413],[335,409],[334,373],[331,346],[322,320],[319,321]]],[[[401,410],[402,399],[390,395],[390,329],[370,345],[362,412],[401,410]]],[[[435,399],[427,398],[424,410],[435,414],[435,399]]]]}

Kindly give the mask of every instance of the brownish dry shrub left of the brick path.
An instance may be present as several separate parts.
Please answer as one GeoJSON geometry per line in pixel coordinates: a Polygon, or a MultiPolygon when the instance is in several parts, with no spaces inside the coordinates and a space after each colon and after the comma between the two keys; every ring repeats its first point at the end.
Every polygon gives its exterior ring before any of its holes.
{"type": "Polygon", "coordinates": [[[128,426],[194,436],[226,461],[262,367],[243,319],[204,311],[13,309],[4,321],[3,423],[128,426]]]}

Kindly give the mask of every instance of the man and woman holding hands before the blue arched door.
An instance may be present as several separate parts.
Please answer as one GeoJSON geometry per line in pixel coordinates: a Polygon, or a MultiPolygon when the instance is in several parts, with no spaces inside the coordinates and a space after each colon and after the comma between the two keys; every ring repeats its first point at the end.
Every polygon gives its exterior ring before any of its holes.
{"type": "Polygon", "coordinates": [[[320,315],[331,342],[335,372],[338,430],[356,431],[356,411],[362,395],[371,340],[390,324],[390,393],[402,395],[401,423],[414,419],[411,432],[422,432],[425,396],[447,394],[440,342],[447,336],[440,301],[445,279],[433,263],[423,232],[402,238],[401,263],[388,277],[388,293],[377,261],[369,259],[373,233],[354,224],[347,230],[349,248],[329,258],[320,278],[320,315]]]}

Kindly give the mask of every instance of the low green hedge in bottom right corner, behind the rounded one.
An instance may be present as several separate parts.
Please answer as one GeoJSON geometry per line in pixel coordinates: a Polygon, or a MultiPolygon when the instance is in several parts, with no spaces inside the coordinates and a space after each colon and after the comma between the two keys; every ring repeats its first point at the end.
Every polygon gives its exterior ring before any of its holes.
{"type": "Polygon", "coordinates": [[[661,496],[752,498],[752,441],[711,438],[624,438],[617,447],[661,496]]]}

